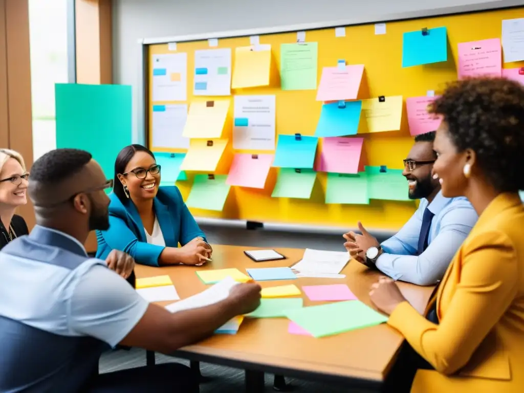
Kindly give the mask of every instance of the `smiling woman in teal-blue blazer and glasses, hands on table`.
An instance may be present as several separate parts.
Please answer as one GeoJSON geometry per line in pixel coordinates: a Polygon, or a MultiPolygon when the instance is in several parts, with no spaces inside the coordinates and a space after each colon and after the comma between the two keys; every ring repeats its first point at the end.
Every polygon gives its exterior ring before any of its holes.
{"type": "Polygon", "coordinates": [[[123,148],[115,161],[110,228],[96,231],[96,257],[121,250],[149,266],[201,265],[212,253],[177,187],[160,185],[160,166],[144,146],[123,148]],[[178,244],[182,247],[178,247],[178,244]]]}

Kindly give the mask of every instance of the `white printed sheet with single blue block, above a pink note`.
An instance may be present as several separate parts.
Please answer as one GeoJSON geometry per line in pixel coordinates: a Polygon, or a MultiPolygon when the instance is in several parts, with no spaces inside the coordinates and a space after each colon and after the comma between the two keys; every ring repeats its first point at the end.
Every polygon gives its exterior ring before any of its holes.
{"type": "Polygon", "coordinates": [[[233,148],[275,150],[275,96],[235,95],[233,148]]]}

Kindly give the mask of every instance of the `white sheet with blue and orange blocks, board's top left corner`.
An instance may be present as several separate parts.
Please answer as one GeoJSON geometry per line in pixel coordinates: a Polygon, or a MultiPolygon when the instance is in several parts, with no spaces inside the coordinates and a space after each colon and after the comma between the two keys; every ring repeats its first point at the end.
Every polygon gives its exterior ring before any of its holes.
{"type": "Polygon", "coordinates": [[[154,54],[152,63],[152,100],[187,100],[187,53],[154,54]]]}

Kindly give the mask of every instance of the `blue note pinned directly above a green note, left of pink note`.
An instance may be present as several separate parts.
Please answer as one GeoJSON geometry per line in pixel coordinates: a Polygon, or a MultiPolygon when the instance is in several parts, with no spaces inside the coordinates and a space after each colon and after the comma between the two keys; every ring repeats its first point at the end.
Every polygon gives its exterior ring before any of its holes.
{"type": "Polygon", "coordinates": [[[297,140],[294,135],[279,135],[273,166],[312,169],[318,143],[315,136],[300,136],[297,140]]]}

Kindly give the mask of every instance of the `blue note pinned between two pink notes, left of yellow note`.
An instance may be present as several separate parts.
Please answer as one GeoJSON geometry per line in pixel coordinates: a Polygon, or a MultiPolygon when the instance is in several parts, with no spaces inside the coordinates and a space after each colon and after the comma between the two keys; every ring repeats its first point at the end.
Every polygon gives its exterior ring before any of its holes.
{"type": "Polygon", "coordinates": [[[339,102],[322,105],[315,136],[345,136],[357,133],[362,101],[349,101],[345,103],[345,107],[341,106],[339,102]]]}

